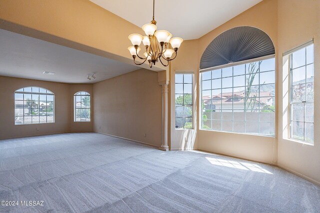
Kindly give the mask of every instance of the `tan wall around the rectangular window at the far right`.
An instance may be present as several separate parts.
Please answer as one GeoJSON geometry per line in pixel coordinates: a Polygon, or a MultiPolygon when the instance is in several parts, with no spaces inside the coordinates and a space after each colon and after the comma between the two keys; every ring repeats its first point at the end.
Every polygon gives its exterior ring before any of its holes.
{"type": "MultiPolygon", "coordinates": [[[[314,38],[314,146],[285,138],[282,132],[282,88],[278,89],[278,165],[320,185],[320,0],[278,1],[278,79],[282,80],[282,53],[314,38]]],[[[283,70],[284,73],[285,70],[283,70]]],[[[282,109],[283,106],[283,110],[282,109]]],[[[284,122],[286,123],[286,122],[284,122]]]]}

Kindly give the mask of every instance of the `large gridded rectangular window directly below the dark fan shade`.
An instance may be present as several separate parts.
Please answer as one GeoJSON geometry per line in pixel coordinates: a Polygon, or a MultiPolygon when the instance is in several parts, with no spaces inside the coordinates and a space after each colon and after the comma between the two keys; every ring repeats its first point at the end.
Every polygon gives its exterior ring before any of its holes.
{"type": "Polygon", "coordinates": [[[274,136],[274,58],[201,73],[202,130],[274,136]]]}

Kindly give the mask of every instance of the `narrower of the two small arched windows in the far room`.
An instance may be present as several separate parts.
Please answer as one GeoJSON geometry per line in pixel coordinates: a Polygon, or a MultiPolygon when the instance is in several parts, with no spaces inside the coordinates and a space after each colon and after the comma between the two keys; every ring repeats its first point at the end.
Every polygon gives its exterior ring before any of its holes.
{"type": "Polygon", "coordinates": [[[90,121],[90,94],[77,92],[74,94],[74,122],[90,121]]]}

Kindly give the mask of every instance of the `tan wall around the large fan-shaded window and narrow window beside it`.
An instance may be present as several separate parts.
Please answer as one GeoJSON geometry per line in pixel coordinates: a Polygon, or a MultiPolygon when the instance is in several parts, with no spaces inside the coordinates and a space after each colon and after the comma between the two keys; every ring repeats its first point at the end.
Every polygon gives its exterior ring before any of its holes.
{"type": "MultiPolygon", "coordinates": [[[[174,74],[174,70],[195,70],[195,75],[197,76],[199,61],[205,48],[217,35],[233,27],[257,27],[270,36],[276,48],[276,24],[277,1],[263,0],[257,5],[249,8],[238,16],[222,24],[221,26],[213,29],[199,39],[182,43],[183,45],[181,45],[182,47],[180,50],[189,51],[191,54],[180,52],[180,57],[172,62],[171,79],[174,74]],[[189,46],[191,48],[185,48],[185,46],[189,46]]],[[[173,86],[173,80],[171,81],[170,85],[173,86]]],[[[199,91],[198,82],[195,90],[199,91]]],[[[172,94],[174,95],[174,92],[171,92],[171,101],[174,100],[172,94]]],[[[198,99],[199,98],[200,97],[198,97],[198,99]]],[[[198,100],[196,103],[198,103],[198,100]]],[[[171,106],[171,110],[174,110],[174,106],[171,106]]],[[[200,122],[199,110],[197,114],[198,121],[200,122]]],[[[172,118],[174,119],[174,116],[171,115],[171,123],[173,122],[172,118]]],[[[174,132],[172,128],[171,131],[174,132]]],[[[203,151],[236,156],[239,158],[255,160],[259,162],[274,163],[276,161],[275,146],[276,141],[273,137],[197,130],[197,148],[203,151]]]]}

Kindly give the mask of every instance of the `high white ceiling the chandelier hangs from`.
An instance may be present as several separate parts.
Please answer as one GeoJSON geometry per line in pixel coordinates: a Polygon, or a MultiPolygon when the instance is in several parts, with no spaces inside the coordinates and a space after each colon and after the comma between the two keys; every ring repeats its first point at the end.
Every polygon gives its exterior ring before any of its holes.
{"type": "MultiPolygon", "coordinates": [[[[152,20],[152,0],[90,0],[141,27],[152,20]]],[[[262,0],[155,0],[158,29],[196,39],[262,0]]],[[[134,33],[134,32],[132,32],[134,33]]]]}

